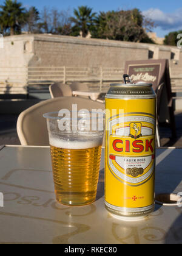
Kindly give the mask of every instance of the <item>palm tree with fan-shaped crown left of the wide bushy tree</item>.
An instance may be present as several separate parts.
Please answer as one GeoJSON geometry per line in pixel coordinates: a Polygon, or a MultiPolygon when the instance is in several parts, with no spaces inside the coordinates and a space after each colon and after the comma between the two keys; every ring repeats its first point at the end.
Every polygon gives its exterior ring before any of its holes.
{"type": "Polygon", "coordinates": [[[70,20],[75,23],[75,27],[78,27],[82,32],[82,36],[86,37],[90,26],[93,25],[96,13],[92,13],[92,8],[87,6],[79,6],[78,10],[74,9],[75,17],[71,17],[70,20]]]}

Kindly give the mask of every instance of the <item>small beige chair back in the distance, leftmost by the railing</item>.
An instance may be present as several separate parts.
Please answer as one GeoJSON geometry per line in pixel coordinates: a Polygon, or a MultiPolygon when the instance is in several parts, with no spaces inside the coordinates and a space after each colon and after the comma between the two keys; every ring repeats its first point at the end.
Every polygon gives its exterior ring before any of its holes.
{"type": "Polygon", "coordinates": [[[63,96],[72,96],[72,89],[70,85],[55,83],[49,87],[51,98],[58,98],[63,96]]]}

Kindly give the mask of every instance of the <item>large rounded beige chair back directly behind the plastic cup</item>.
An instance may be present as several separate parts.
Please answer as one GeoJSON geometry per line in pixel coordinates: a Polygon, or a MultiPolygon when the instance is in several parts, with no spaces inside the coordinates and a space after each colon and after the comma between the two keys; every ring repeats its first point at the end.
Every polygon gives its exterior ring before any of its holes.
{"type": "Polygon", "coordinates": [[[17,132],[22,146],[49,146],[49,135],[44,113],[57,112],[62,108],[72,110],[72,104],[77,104],[78,110],[86,108],[104,110],[105,105],[90,99],[61,97],[40,102],[28,108],[19,115],[17,132]]]}

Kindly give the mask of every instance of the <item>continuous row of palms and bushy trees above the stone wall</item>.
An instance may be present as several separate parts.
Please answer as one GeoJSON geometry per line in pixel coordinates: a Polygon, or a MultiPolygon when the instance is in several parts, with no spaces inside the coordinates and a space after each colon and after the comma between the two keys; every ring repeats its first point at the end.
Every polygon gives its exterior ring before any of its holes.
{"type": "Polygon", "coordinates": [[[39,12],[36,7],[24,9],[17,0],[5,0],[0,5],[1,32],[11,35],[20,34],[21,30],[29,34],[45,33],[72,35],[78,37],[107,38],[110,40],[153,43],[146,32],[151,31],[154,23],[144,18],[140,10],[118,10],[93,12],[88,6],[79,6],[73,10],[44,7],[39,12]]]}

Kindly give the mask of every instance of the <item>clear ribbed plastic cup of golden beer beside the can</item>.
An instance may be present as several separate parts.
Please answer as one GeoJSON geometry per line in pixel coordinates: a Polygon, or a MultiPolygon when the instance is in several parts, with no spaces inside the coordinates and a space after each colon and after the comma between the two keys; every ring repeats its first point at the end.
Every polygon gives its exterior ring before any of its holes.
{"type": "Polygon", "coordinates": [[[91,204],[98,186],[104,116],[90,112],[71,113],[69,118],[58,115],[44,114],[56,199],[65,205],[91,204]]]}

